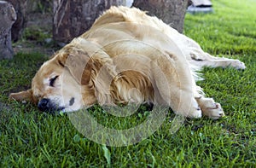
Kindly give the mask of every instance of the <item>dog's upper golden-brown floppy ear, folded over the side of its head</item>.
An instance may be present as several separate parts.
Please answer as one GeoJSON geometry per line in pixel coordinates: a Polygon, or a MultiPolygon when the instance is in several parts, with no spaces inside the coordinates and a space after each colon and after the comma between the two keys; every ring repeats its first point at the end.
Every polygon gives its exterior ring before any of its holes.
{"type": "Polygon", "coordinates": [[[67,67],[73,78],[79,84],[88,84],[93,62],[87,53],[80,50],[73,50],[59,56],[58,63],[62,67],[67,67]]]}

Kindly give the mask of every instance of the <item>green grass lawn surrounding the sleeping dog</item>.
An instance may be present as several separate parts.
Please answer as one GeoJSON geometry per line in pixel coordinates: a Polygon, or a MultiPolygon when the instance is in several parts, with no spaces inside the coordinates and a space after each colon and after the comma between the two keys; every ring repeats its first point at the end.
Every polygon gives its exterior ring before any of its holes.
{"type": "MultiPolygon", "coordinates": [[[[20,53],[12,61],[0,61],[0,167],[255,167],[256,2],[212,3],[214,14],[186,15],[184,32],[212,55],[246,63],[245,71],[205,68],[205,80],[198,83],[222,104],[227,117],[187,119],[170,134],[168,119],[174,115],[168,114],[160,129],[142,142],[106,147],[80,134],[67,115],[48,115],[31,104],[9,101],[10,92],[30,87],[47,59],[20,53]]],[[[147,118],[135,114],[111,119],[98,110],[91,113],[116,128],[147,118]]]]}

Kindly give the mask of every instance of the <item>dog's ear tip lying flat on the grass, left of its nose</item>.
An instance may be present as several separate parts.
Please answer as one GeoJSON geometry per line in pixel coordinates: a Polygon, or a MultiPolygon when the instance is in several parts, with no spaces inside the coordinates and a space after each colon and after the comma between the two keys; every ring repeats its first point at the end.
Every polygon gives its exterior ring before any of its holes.
{"type": "Polygon", "coordinates": [[[34,102],[33,96],[32,96],[32,90],[26,90],[26,91],[20,91],[18,93],[11,93],[9,95],[10,99],[13,99],[15,101],[30,101],[34,102]]]}

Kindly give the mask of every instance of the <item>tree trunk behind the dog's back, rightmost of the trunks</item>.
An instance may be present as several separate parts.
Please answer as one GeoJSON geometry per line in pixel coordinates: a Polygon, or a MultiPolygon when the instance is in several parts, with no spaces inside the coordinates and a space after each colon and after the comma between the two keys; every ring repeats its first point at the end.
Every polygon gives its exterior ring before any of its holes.
{"type": "Polygon", "coordinates": [[[166,24],[183,32],[184,16],[189,0],[134,0],[132,6],[148,11],[166,24]]]}

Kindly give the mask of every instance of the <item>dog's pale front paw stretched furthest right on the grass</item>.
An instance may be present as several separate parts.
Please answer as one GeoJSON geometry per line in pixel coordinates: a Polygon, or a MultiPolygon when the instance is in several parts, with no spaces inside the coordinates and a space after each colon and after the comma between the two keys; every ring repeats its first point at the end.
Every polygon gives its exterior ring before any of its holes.
{"type": "Polygon", "coordinates": [[[224,111],[219,103],[215,102],[212,98],[200,98],[199,105],[203,115],[210,119],[219,119],[224,117],[224,111]]]}

